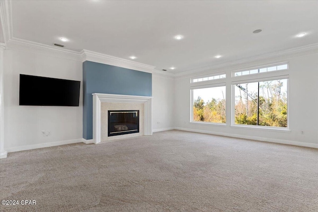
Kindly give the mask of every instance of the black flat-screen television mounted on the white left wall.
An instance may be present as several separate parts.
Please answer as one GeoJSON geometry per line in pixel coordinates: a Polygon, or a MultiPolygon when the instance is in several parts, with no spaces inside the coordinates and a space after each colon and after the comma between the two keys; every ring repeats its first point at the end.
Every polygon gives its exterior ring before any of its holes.
{"type": "Polygon", "coordinates": [[[79,106],[80,81],[20,74],[19,105],[79,106]]]}

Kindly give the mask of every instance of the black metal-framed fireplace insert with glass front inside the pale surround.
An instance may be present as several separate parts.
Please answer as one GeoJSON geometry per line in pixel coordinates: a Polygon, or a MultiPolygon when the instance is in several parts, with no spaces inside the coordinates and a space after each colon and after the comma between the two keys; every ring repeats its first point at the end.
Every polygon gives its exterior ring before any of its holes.
{"type": "Polygon", "coordinates": [[[139,110],[108,110],[108,137],[139,133],[139,110]]]}

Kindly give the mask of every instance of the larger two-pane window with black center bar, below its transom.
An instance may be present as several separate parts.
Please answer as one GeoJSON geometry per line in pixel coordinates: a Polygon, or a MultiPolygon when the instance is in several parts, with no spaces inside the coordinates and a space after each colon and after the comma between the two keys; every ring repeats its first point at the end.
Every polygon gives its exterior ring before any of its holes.
{"type": "Polygon", "coordinates": [[[235,124],[287,128],[287,81],[234,84],[235,124]]]}

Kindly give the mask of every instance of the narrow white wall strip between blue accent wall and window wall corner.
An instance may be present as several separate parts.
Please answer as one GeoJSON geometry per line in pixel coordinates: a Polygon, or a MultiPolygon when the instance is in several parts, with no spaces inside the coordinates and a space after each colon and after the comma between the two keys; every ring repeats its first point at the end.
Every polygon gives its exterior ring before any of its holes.
{"type": "Polygon", "coordinates": [[[174,79],[153,74],[153,132],[171,130],[173,126],[174,79]]]}

